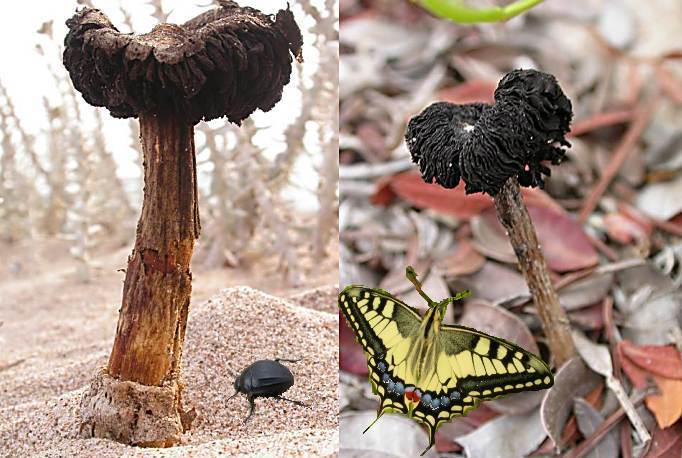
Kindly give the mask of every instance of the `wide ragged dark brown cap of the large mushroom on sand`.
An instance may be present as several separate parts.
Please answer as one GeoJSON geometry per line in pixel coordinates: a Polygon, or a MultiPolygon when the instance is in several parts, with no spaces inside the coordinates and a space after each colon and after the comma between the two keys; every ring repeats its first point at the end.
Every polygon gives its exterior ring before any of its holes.
{"type": "Polygon", "coordinates": [[[183,25],[123,34],[99,10],[66,21],[64,65],[91,105],[117,118],[172,110],[187,123],[226,116],[239,124],[270,110],[289,82],[301,32],[289,9],[272,18],[222,0],[183,25]]]}

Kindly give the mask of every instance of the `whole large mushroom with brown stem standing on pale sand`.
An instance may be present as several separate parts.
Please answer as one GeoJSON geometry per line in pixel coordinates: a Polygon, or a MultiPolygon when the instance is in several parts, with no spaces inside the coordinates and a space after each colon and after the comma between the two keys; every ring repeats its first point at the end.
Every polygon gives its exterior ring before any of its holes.
{"type": "Polygon", "coordinates": [[[139,117],[144,200],[106,369],[81,404],[85,435],[170,446],[189,427],[180,363],[199,236],[194,125],[270,110],[301,60],[287,8],[269,16],[230,0],[182,25],[123,34],[99,10],[67,21],[64,66],[91,105],[139,117]],[[183,424],[184,423],[184,424],[183,424]]]}

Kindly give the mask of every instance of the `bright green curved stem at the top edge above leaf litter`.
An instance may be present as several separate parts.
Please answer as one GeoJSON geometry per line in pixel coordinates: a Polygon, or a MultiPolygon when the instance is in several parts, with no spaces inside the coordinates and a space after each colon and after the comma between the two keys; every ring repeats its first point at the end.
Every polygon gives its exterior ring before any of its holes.
{"type": "Polygon", "coordinates": [[[507,6],[478,9],[464,4],[463,0],[415,0],[431,13],[463,24],[477,22],[500,22],[517,16],[539,5],[544,0],[517,0],[507,6]]]}

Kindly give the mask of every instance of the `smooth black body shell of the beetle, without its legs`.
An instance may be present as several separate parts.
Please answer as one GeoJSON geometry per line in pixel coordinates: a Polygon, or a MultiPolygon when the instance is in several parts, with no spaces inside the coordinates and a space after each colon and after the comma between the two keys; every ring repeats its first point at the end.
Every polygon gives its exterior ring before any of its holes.
{"type": "Polygon", "coordinates": [[[237,391],[253,397],[280,396],[293,384],[291,371],[278,361],[271,360],[256,361],[235,380],[237,391]]]}

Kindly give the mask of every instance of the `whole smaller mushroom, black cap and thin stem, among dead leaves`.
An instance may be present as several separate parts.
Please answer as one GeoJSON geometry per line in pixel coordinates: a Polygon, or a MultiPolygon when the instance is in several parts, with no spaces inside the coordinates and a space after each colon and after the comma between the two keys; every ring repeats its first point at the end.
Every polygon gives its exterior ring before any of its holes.
{"type": "Polygon", "coordinates": [[[405,140],[427,183],[487,193],[518,258],[557,367],[575,355],[566,313],[549,277],[519,185],[542,187],[569,147],[570,100],[554,76],[514,70],[493,105],[437,102],[408,124],[405,140]]]}

